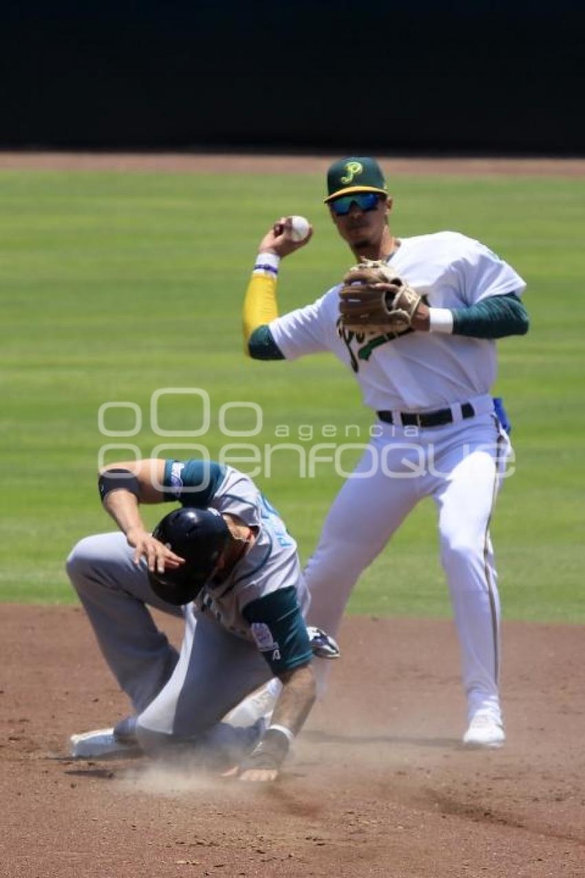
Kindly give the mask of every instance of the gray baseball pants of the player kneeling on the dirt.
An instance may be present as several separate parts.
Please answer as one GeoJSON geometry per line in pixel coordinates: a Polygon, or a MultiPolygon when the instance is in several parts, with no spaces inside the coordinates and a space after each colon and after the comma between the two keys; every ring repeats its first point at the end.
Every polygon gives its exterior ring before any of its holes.
{"type": "Polygon", "coordinates": [[[236,637],[191,604],[161,601],[146,565],[135,565],[122,533],[88,536],[68,557],[69,579],[97,642],[138,716],[137,737],[146,752],[189,741],[231,745],[232,727],[219,721],[270,680],[255,644],[236,637]],[[148,607],[183,616],[177,653],[148,607]]]}

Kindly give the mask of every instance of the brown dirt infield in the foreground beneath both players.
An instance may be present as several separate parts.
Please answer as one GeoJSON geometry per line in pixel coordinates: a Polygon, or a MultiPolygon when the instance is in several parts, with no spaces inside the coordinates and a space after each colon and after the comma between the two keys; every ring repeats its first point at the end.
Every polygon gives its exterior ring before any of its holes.
{"type": "MultiPolygon", "coordinates": [[[[165,622],[180,637],[175,620],[165,622]]],[[[450,623],[350,618],[324,703],[282,781],[65,759],[125,698],[79,608],[4,605],[5,878],[577,878],[585,874],[585,640],[509,623],[509,743],[459,745],[450,623]]]]}

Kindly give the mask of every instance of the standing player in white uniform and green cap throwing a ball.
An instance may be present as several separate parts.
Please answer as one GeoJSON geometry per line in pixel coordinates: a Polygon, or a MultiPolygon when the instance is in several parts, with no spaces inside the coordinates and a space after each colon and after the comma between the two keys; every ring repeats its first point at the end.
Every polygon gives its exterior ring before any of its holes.
{"type": "MultiPolygon", "coordinates": [[[[372,158],[334,162],[327,190],[332,221],[356,259],[382,261],[417,297],[404,331],[348,328],[352,320],[340,313],[348,289],[342,291],[342,284],[279,317],[281,260],[310,234],[294,241],[283,217],[260,242],[244,306],[247,352],[292,360],[331,351],[353,373],[376,418],[374,436],[333,501],[304,572],[309,620],[335,635],[360,573],[418,500],[431,496],[460,640],[467,695],[463,742],[499,747],[505,739],[500,601],[489,523],[510,439],[503,406],[495,405],[490,389],[496,338],[528,330],[520,300],[525,284],[498,255],[463,234],[391,234],[392,198],[372,158]]],[[[394,307],[398,287],[377,286],[394,307]]]]}

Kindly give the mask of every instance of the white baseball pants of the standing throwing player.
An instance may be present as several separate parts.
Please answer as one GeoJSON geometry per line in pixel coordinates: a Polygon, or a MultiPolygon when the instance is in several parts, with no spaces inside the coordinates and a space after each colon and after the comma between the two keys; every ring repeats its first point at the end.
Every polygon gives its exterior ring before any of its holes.
{"type": "MultiPolygon", "coordinates": [[[[510,440],[494,414],[440,428],[381,424],[381,430],[333,501],[304,572],[311,595],[308,621],[336,635],[361,572],[417,502],[431,496],[468,716],[485,709],[499,718],[500,601],[489,522],[510,440]]],[[[317,669],[322,690],[326,668],[321,662],[317,669]]]]}

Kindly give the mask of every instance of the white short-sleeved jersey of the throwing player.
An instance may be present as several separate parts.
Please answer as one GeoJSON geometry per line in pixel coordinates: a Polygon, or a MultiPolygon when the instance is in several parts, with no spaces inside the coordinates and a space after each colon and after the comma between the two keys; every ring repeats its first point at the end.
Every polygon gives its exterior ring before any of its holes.
{"type": "MultiPolygon", "coordinates": [[[[396,273],[429,306],[465,308],[525,283],[480,241],[457,232],[401,239],[396,273]]],[[[332,351],[352,370],[375,411],[424,412],[489,393],[496,380],[496,342],[464,335],[410,332],[399,338],[339,327],[340,284],[312,305],[272,320],[270,331],[289,360],[332,351]]]]}

